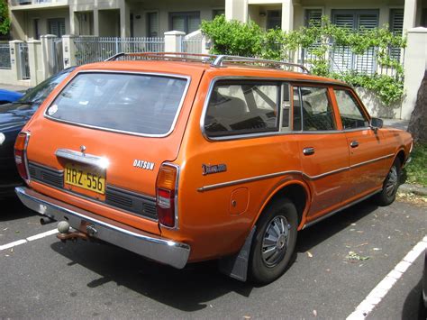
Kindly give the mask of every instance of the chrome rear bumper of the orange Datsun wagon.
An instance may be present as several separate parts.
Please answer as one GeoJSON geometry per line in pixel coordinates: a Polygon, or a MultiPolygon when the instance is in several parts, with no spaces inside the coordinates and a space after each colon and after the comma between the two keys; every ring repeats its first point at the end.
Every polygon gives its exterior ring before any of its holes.
{"type": "Polygon", "coordinates": [[[190,254],[190,246],[186,243],[174,242],[126,224],[96,216],[76,206],[70,206],[54,198],[41,195],[29,187],[16,187],[15,192],[25,206],[41,215],[49,216],[57,221],[66,220],[71,227],[85,233],[86,229],[81,230],[82,226],[90,225],[91,228],[95,228],[96,233],[92,233],[95,239],[112,243],[177,269],[186,266],[190,254]]]}

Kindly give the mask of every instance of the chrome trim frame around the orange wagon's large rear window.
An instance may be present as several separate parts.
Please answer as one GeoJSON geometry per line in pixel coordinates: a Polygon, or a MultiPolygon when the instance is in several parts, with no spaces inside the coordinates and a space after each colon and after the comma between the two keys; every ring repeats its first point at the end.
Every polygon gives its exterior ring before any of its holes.
{"type": "Polygon", "coordinates": [[[174,75],[174,74],[167,74],[167,73],[156,73],[156,72],[132,72],[132,71],[117,71],[117,70],[99,70],[99,69],[93,69],[93,70],[81,70],[78,71],[73,78],[70,78],[68,80],[68,83],[66,86],[62,87],[62,89],[59,91],[59,94],[57,96],[55,96],[53,98],[53,100],[50,102],[50,105],[48,105],[45,110],[44,110],[44,117],[48,118],[52,121],[56,121],[59,123],[68,123],[68,124],[72,124],[72,125],[77,125],[80,127],[85,127],[85,128],[90,128],[90,129],[96,129],[96,130],[102,130],[102,131],[106,131],[106,132],[112,132],[112,133],[124,133],[124,134],[131,134],[131,135],[137,135],[137,136],[141,136],[141,137],[150,137],[150,138],[164,138],[167,137],[170,133],[172,133],[175,129],[175,125],[177,124],[177,118],[179,117],[179,114],[181,114],[181,109],[182,106],[184,105],[184,100],[186,99],[186,93],[188,91],[188,87],[190,87],[190,82],[191,82],[191,77],[189,76],[181,76],[181,75],[174,75]],[[52,105],[56,98],[62,93],[62,91],[68,87],[68,84],[77,77],[77,75],[82,74],[82,73],[115,73],[115,74],[132,74],[132,75],[139,75],[139,76],[145,76],[145,75],[149,75],[149,76],[158,76],[158,77],[163,77],[163,78],[182,78],[182,79],[186,79],[186,87],[184,89],[183,95],[181,96],[181,100],[179,101],[179,105],[177,107],[177,113],[175,114],[175,118],[174,121],[172,122],[170,129],[168,130],[168,133],[162,133],[162,134],[149,134],[149,133],[134,133],[131,131],[124,131],[124,130],[116,130],[116,129],[110,129],[110,128],[105,128],[105,127],[100,127],[100,126],[96,126],[96,125],[91,125],[91,124],[85,124],[85,123],[74,123],[72,121],[67,121],[67,120],[61,120],[58,118],[54,118],[52,116],[50,116],[48,114],[48,109],[50,108],[50,105],[52,105]]]}

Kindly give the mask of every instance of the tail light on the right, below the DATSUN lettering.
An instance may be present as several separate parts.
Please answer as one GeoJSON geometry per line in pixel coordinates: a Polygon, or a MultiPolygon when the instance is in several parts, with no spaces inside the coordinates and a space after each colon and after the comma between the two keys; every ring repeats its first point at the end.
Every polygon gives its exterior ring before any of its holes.
{"type": "Polygon", "coordinates": [[[179,167],[162,164],[156,182],[157,214],[160,224],[175,227],[177,179],[179,167]]]}

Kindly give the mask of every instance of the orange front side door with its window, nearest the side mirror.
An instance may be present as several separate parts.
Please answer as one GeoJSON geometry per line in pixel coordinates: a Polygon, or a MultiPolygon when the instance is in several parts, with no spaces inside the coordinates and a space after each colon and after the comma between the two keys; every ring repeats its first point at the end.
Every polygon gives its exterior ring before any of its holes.
{"type": "Polygon", "coordinates": [[[369,127],[368,114],[354,92],[349,88],[333,91],[350,154],[346,197],[361,197],[382,186],[390,155],[381,130],[369,127]]]}

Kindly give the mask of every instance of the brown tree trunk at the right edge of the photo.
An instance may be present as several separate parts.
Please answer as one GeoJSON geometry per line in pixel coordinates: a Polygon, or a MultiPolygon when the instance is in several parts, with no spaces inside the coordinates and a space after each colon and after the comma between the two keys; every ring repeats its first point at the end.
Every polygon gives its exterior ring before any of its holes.
{"type": "Polygon", "coordinates": [[[418,89],[408,131],[413,135],[414,142],[427,142],[427,70],[424,72],[424,78],[418,89]]]}

